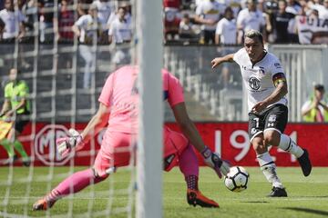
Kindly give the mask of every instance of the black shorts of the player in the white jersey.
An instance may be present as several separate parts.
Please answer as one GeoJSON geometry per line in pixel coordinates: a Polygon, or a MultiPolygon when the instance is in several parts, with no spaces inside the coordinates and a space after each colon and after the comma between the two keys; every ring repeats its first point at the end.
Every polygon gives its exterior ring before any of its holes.
{"type": "Polygon", "coordinates": [[[283,104],[274,104],[260,114],[249,113],[250,141],[267,129],[278,130],[283,133],[288,122],[288,107],[283,104]]]}

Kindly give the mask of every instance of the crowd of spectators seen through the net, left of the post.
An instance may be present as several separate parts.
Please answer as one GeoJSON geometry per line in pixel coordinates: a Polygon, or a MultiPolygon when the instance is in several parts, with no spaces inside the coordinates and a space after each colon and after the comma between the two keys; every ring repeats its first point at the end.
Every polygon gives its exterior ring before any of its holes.
{"type": "Polygon", "coordinates": [[[122,44],[132,36],[129,1],[1,0],[0,41],[122,44]],[[16,3],[16,4],[15,4],[16,3]],[[121,15],[124,14],[122,19],[121,15]]]}

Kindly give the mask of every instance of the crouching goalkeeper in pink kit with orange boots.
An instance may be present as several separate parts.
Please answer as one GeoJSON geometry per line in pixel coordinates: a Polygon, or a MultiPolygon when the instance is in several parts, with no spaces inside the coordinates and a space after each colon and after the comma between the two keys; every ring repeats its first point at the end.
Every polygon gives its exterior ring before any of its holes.
{"type": "MultiPolygon", "coordinates": [[[[229,165],[220,160],[203,144],[195,125],[190,121],[184,104],[183,90],[179,80],[162,70],[164,99],[175,115],[183,134],[164,127],[164,170],[179,165],[187,183],[187,202],[201,207],[219,207],[219,204],[200,193],[198,188],[199,163],[192,145],[202,154],[205,163],[219,176],[229,172],[229,165]]],[[[98,98],[99,109],[82,134],[70,130],[68,138],[57,140],[58,152],[67,155],[71,150],[82,149],[91,137],[106,124],[108,128],[96,161],[91,169],[70,175],[55,189],[33,205],[33,210],[46,210],[69,193],[77,193],[90,183],[99,183],[108,177],[108,169],[128,165],[131,144],[138,137],[138,66],[123,66],[110,74],[98,98]],[[132,143],[131,143],[132,142],[132,143]],[[126,149],[127,152],[121,152],[126,149]],[[120,151],[120,152],[118,152],[120,151]],[[71,192],[71,190],[73,192],[71,192]]]]}

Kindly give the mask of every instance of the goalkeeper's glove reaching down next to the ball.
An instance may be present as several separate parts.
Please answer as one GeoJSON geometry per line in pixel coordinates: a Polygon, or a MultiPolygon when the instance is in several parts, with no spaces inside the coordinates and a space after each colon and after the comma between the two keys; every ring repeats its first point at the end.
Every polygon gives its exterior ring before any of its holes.
{"type": "Polygon", "coordinates": [[[220,155],[210,151],[210,148],[205,146],[205,149],[201,152],[201,155],[204,158],[204,162],[208,164],[215,173],[218,174],[219,178],[222,178],[222,173],[227,175],[230,171],[230,164],[222,161],[220,155]]]}

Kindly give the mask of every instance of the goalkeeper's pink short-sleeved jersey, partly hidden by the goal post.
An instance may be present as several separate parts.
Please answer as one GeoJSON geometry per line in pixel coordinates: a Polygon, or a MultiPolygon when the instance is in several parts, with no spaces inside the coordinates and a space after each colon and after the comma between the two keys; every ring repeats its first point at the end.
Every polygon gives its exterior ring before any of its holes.
{"type": "MultiPolygon", "coordinates": [[[[184,102],[179,80],[162,70],[164,100],[173,107],[184,102]]],[[[98,101],[110,108],[108,131],[138,133],[138,66],[123,66],[108,76],[98,101]]],[[[167,127],[165,132],[169,131],[167,127]]],[[[166,134],[164,134],[166,135],[166,134]]],[[[166,136],[165,136],[166,138],[166,136]]]]}

